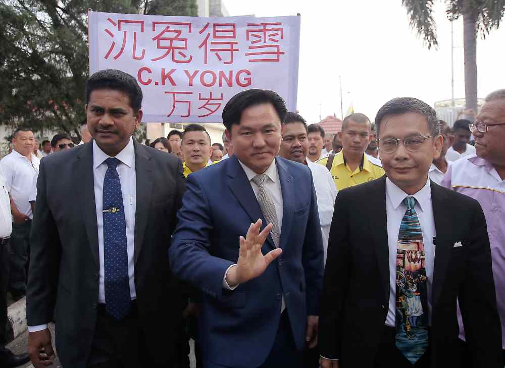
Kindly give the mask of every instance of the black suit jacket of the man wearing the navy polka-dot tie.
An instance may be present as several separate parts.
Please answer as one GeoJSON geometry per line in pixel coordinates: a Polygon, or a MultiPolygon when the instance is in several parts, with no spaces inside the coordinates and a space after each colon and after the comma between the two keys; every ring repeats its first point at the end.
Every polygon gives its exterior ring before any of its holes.
{"type": "MultiPolygon", "coordinates": [[[[185,189],[175,156],[134,140],[136,212],[134,274],[137,305],[149,354],[172,359],[181,319],[180,286],[169,269],[168,247],[185,189]]],[[[65,367],[84,367],[98,301],[98,232],[92,141],[44,158],[37,182],[27,286],[29,326],[53,319],[65,367]]]]}

